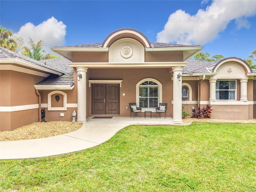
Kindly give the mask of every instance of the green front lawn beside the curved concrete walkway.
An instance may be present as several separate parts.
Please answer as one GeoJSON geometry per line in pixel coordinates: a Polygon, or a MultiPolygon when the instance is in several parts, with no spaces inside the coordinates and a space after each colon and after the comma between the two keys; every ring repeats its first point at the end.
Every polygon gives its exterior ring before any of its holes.
{"type": "Polygon", "coordinates": [[[256,191],[256,124],[128,126],[87,150],[0,161],[0,191],[256,191]]]}

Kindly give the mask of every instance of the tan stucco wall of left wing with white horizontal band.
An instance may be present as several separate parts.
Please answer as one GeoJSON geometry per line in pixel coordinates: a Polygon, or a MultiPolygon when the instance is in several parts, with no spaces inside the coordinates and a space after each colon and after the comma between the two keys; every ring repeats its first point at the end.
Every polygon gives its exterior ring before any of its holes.
{"type": "Polygon", "coordinates": [[[38,104],[34,84],[43,78],[12,70],[0,71],[0,106],[10,109],[0,112],[0,131],[14,130],[38,121],[38,108],[27,108],[38,104]]]}

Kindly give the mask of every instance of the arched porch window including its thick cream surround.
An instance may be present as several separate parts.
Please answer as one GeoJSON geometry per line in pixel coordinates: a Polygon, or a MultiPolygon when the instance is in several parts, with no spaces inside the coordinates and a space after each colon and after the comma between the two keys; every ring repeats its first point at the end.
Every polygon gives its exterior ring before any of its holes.
{"type": "Polygon", "coordinates": [[[144,79],[137,83],[136,103],[144,109],[155,109],[162,102],[162,84],[155,79],[144,79]]]}

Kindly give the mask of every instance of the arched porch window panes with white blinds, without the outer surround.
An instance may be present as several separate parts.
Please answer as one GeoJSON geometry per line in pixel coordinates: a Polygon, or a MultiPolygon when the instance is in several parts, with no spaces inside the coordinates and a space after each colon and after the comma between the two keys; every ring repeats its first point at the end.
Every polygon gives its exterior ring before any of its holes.
{"type": "Polygon", "coordinates": [[[144,81],[139,85],[139,105],[141,108],[157,108],[159,86],[154,81],[144,81]]]}

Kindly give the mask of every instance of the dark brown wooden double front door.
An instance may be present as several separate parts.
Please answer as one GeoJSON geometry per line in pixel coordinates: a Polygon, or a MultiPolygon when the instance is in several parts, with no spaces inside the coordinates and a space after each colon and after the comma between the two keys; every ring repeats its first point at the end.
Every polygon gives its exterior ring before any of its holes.
{"type": "Polygon", "coordinates": [[[119,84],[92,84],[92,114],[119,114],[119,84]]]}

